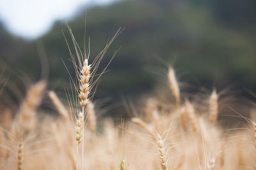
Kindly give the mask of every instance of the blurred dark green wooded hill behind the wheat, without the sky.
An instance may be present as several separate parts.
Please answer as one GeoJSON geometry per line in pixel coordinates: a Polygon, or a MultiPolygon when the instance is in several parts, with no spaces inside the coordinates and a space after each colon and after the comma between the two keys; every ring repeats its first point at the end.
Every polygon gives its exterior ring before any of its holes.
{"type": "MultiPolygon", "coordinates": [[[[136,95],[152,90],[159,81],[166,80],[151,72],[164,74],[163,69],[170,64],[181,74],[181,81],[192,85],[209,89],[212,85],[218,89],[235,85],[255,90],[256,42],[251,15],[256,15],[252,8],[247,8],[251,13],[243,13],[246,6],[255,4],[250,1],[244,7],[230,1],[233,4],[228,6],[228,2],[120,1],[87,10],[86,39],[90,36],[92,57],[120,27],[125,28],[107,53],[109,59],[122,46],[109,66],[110,71],[102,77],[98,95],[118,96],[120,92],[136,95]]],[[[82,11],[68,21],[81,46],[84,19],[85,11],[82,11]]],[[[65,23],[58,21],[45,36],[26,43],[15,53],[17,59],[12,63],[38,77],[40,62],[36,43],[41,43],[49,58],[51,82],[67,82],[61,57],[68,67],[72,64],[68,61],[61,30],[69,38],[65,23]]],[[[108,59],[103,60],[103,66],[108,59]]]]}

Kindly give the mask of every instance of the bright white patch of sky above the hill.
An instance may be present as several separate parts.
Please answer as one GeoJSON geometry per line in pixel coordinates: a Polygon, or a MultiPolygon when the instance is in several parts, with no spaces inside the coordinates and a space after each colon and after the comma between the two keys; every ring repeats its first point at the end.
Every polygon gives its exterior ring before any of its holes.
{"type": "Polygon", "coordinates": [[[26,39],[35,39],[55,20],[68,20],[81,7],[109,4],[115,0],[2,0],[0,21],[8,31],[26,39]]]}

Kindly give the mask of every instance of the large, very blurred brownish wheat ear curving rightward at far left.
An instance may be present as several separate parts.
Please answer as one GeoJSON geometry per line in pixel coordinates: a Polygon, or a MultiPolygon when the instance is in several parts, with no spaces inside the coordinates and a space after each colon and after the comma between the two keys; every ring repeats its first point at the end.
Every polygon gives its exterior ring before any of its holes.
{"type": "Polygon", "coordinates": [[[21,132],[31,131],[35,127],[35,110],[39,106],[46,88],[46,81],[41,80],[32,85],[19,110],[19,126],[21,132]]]}

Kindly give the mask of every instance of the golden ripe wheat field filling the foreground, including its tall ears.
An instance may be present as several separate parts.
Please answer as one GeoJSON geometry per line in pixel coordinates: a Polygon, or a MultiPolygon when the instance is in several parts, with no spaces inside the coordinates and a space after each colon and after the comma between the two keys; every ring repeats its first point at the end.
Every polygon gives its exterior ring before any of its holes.
{"type": "MultiPolygon", "coordinates": [[[[131,109],[129,118],[120,117],[119,122],[105,118],[99,122],[93,96],[108,66],[100,74],[97,69],[120,30],[91,59],[90,52],[79,48],[68,29],[72,38],[68,48],[76,75],[70,79],[71,90],[65,90],[67,99],[60,99],[42,79],[29,86],[14,114],[2,107],[0,169],[256,168],[253,119],[236,113],[246,124],[224,128],[218,122],[220,106],[225,104],[220,101],[218,89],[213,88],[200,101],[183,96],[173,67],[166,71],[170,93],[164,94],[172,96],[173,102],[152,96],[145,99],[143,107],[135,109],[140,114],[131,109]],[[38,110],[44,96],[59,113],[57,117],[38,110]]],[[[1,79],[4,90],[4,77],[1,79]]]]}

